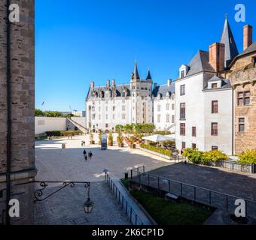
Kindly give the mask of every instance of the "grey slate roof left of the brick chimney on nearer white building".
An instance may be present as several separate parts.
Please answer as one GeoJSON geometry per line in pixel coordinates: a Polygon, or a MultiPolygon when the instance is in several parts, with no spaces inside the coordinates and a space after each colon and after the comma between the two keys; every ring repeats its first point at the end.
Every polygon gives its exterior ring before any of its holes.
{"type": "Polygon", "coordinates": [[[202,71],[215,72],[214,68],[209,64],[209,52],[199,50],[194,58],[187,65],[187,76],[198,74],[202,71]]]}

